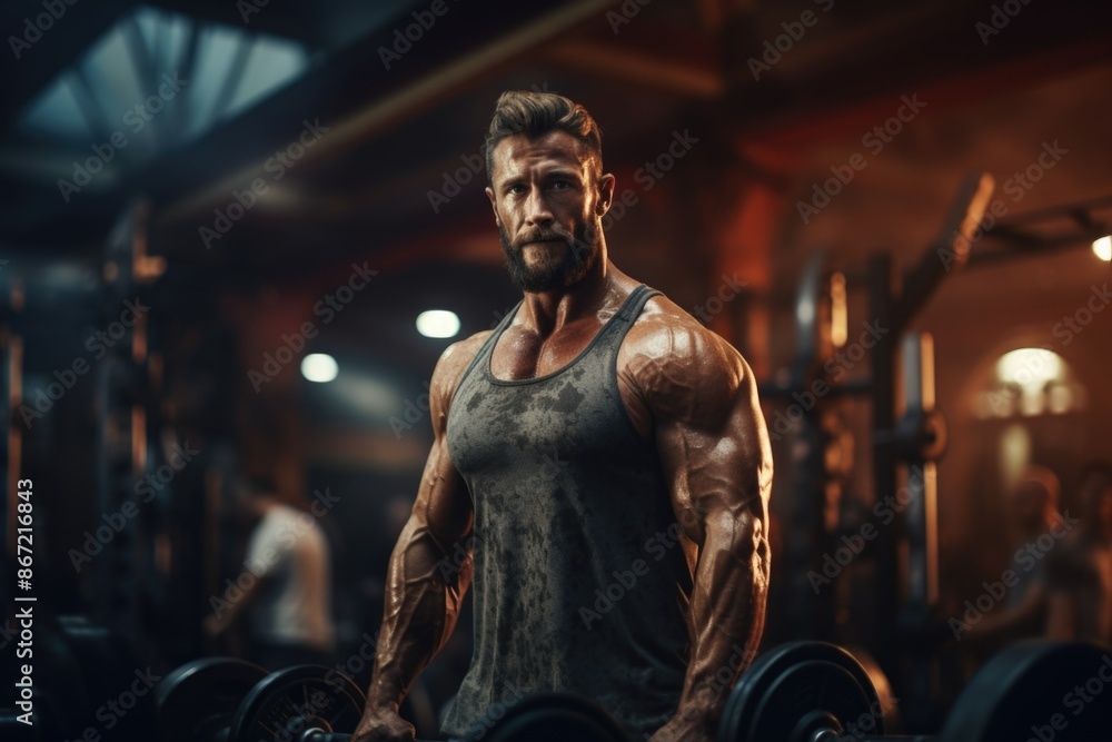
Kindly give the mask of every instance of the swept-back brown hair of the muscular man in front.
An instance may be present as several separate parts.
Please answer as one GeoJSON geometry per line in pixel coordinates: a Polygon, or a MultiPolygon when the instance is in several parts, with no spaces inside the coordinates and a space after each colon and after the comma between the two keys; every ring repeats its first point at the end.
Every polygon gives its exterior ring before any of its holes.
{"type": "Polygon", "coordinates": [[[494,148],[499,141],[517,133],[536,139],[550,131],[566,131],[583,142],[602,172],[603,132],[586,108],[555,92],[507,90],[498,97],[487,129],[487,181],[494,177],[494,148]]]}

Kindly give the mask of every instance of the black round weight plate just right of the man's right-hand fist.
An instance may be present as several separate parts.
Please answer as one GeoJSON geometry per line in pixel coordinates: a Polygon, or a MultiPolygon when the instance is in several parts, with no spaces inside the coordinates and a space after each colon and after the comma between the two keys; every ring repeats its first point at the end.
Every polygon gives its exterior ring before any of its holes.
{"type": "Polygon", "coordinates": [[[792,642],[758,656],[726,701],[718,742],[803,742],[817,729],[884,733],[881,703],[861,664],[825,642],[792,642]]]}

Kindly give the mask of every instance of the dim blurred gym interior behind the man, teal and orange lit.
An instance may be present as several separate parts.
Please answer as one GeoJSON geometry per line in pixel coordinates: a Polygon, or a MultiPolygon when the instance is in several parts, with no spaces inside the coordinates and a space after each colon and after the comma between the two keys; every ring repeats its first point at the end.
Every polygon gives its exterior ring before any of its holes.
{"type": "MultiPolygon", "coordinates": [[[[433,368],[520,298],[484,194],[510,89],[590,111],[610,259],[755,374],[762,650],[845,647],[888,732],[940,734],[1048,635],[976,624],[1060,547],[1021,555],[1031,467],[1069,528],[1112,465],[1106,6],[20,0],[0,29],[4,739],[162,739],[136,677],[244,655],[205,626],[242,587],[245,476],[319,505],[329,666],[367,690],[433,368]]],[[[469,610],[411,694],[418,739],[469,610]]],[[[1055,690],[1004,715],[1082,739],[1112,706],[1088,687],[1078,716],[1055,690]]]]}

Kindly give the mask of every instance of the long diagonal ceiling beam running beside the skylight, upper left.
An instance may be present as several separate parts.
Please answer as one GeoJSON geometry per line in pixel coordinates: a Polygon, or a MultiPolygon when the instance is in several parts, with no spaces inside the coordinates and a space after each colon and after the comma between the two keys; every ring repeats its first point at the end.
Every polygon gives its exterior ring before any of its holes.
{"type": "Polygon", "coordinates": [[[298,133],[302,119],[319,118],[329,131],[312,148],[306,149],[298,167],[302,167],[302,162],[335,157],[445,99],[459,96],[537,44],[600,17],[613,4],[613,0],[578,0],[532,6],[507,1],[481,7],[451,6],[450,12],[428,31],[428,39],[415,41],[413,49],[394,61],[393,69],[387,69],[379,49],[391,49],[395,31],[414,22],[404,16],[386,30],[336,55],[248,115],[187,148],[179,157],[152,167],[147,178],[150,192],[156,200],[172,202],[163,211],[167,219],[203,208],[214,199],[226,197],[234,188],[241,188],[265,175],[267,157],[298,133]],[[368,91],[368,102],[354,111],[349,100],[336,101],[344,93],[350,96],[360,88],[368,91]],[[265,138],[259,136],[260,130],[276,127],[279,130],[275,133],[265,138]],[[246,141],[255,147],[245,148],[246,141]],[[229,164],[226,171],[230,172],[218,181],[214,182],[208,171],[188,174],[189,162],[228,162],[226,152],[232,150],[241,155],[229,164]],[[168,167],[173,170],[180,167],[187,175],[170,182],[165,178],[168,167]],[[182,192],[187,194],[183,198],[182,192]]]}

